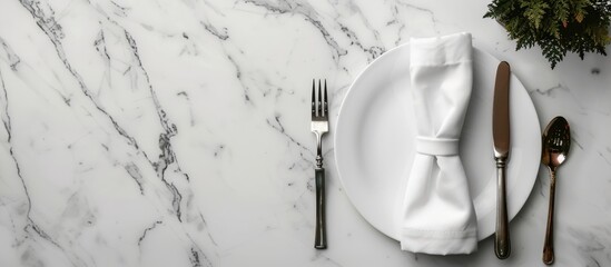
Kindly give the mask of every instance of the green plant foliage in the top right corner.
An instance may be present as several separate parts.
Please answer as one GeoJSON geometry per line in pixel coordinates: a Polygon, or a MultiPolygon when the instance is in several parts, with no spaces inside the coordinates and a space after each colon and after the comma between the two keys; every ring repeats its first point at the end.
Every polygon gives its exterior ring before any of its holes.
{"type": "Polygon", "coordinates": [[[611,43],[609,0],[493,0],[484,18],[496,19],[516,41],[516,50],[541,47],[552,69],[566,56],[607,56],[611,43]]]}

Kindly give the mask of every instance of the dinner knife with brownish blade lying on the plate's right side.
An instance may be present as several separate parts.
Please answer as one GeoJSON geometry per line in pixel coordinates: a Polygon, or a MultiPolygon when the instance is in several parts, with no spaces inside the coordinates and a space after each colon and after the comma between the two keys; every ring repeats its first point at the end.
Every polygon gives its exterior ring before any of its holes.
{"type": "Polygon", "coordinates": [[[505,166],[510,154],[510,66],[502,61],[496,69],[494,100],[492,106],[492,138],[494,159],[496,160],[496,233],[494,234],[494,254],[500,259],[511,255],[507,204],[505,190],[505,166]]]}

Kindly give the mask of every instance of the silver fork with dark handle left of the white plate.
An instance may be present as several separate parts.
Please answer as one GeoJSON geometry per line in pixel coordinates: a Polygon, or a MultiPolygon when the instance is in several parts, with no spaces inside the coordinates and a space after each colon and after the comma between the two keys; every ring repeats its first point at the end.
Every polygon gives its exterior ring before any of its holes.
{"type": "Polygon", "coordinates": [[[316,135],[316,236],[314,247],[324,249],[327,247],[325,227],[325,168],[323,168],[323,135],[328,132],[328,98],[327,80],[325,91],[322,93],[321,80],[318,80],[318,97],[316,97],[316,80],[312,80],[312,132],[316,135]]]}

